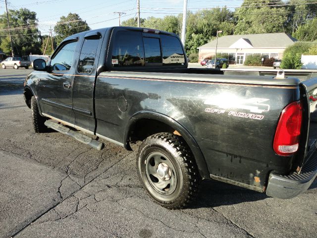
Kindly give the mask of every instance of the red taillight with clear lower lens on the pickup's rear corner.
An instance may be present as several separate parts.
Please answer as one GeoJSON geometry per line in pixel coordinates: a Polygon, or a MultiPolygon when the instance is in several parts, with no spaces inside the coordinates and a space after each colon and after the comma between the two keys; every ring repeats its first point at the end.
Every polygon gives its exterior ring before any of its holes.
{"type": "Polygon", "coordinates": [[[283,109],[273,142],[273,149],[276,154],[288,156],[298,150],[302,114],[303,109],[300,101],[293,102],[283,109]]]}

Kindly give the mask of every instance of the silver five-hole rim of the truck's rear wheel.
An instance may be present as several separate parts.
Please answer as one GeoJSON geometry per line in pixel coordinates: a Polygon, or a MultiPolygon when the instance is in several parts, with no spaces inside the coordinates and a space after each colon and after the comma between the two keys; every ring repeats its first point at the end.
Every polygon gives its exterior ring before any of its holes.
{"type": "Polygon", "coordinates": [[[160,194],[172,194],[177,186],[176,170],[167,156],[153,152],[145,160],[145,174],[150,185],[160,194]]]}

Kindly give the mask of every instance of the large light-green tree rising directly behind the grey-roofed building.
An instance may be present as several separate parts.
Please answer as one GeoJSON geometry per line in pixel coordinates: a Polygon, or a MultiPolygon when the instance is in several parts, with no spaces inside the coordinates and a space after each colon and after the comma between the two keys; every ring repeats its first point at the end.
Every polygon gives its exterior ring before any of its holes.
{"type": "Polygon", "coordinates": [[[282,1],[244,0],[234,16],[237,20],[234,34],[260,34],[283,32],[287,21],[285,7],[277,7],[282,1]]]}

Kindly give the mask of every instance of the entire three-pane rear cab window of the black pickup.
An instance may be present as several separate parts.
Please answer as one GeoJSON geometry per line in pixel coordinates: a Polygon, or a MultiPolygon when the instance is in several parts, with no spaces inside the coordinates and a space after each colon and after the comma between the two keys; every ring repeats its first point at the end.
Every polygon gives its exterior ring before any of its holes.
{"type": "Polygon", "coordinates": [[[119,30],[112,42],[112,67],[183,66],[186,62],[175,36],[119,30]]]}

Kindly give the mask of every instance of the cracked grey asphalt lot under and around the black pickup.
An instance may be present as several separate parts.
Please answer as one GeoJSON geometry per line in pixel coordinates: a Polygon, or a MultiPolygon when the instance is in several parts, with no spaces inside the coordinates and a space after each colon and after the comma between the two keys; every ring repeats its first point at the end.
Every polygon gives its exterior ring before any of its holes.
{"type": "Polygon", "coordinates": [[[160,207],[137,178],[137,145],[96,151],[33,132],[22,96],[30,71],[0,69],[0,237],[316,237],[317,181],[282,200],[204,180],[191,207],[160,207]]]}

